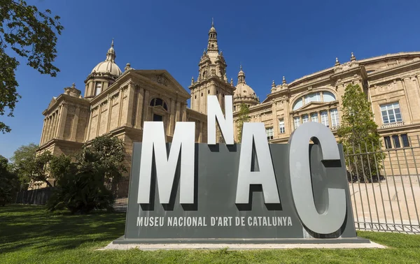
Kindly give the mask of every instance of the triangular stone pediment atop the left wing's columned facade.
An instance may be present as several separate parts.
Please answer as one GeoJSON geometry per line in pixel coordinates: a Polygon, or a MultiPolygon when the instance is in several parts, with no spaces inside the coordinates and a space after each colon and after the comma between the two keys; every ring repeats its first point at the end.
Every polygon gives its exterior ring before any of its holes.
{"type": "Polygon", "coordinates": [[[148,78],[148,80],[151,80],[158,85],[173,89],[182,96],[190,98],[188,91],[186,91],[186,89],[184,89],[166,70],[134,70],[133,72],[144,78],[148,78]]]}

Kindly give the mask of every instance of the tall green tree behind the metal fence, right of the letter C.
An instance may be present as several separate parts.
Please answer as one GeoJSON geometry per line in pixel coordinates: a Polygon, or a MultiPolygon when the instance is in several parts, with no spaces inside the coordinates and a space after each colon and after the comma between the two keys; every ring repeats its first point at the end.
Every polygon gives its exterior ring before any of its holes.
{"type": "Polygon", "coordinates": [[[347,85],[342,96],[342,124],[337,134],[344,153],[350,154],[346,166],[360,182],[379,177],[384,154],[377,152],[381,148],[377,129],[366,94],[359,85],[347,85]]]}

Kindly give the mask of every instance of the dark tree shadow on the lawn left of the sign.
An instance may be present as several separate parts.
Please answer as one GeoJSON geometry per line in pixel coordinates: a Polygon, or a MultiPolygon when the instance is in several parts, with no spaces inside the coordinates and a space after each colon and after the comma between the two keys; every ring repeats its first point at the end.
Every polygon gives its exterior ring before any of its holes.
{"type": "Polygon", "coordinates": [[[0,207],[0,253],[36,249],[74,249],[87,242],[114,240],[124,234],[125,213],[71,215],[44,206],[0,207]]]}

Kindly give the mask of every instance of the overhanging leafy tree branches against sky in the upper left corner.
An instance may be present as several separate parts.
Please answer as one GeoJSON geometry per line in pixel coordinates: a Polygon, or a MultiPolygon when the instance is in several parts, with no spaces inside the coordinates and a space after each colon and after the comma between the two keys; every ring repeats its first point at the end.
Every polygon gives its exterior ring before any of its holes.
{"type": "MultiPolygon", "coordinates": [[[[50,16],[51,11],[38,11],[36,6],[27,6],[25,1],[0,0],[0,115],[8,108],[8,116],[13,117],[18,94],[15,71],[20,64],[16,57],[6,53],[6,48],[27,60],[27,65],[41,74],[52,77],[59,68],[52,65],[57,57],[57,34],[61,35],[59,16],[50,16]]],[[[10,127],[0,122],[2,133],[10,132],[10,127]]]]}

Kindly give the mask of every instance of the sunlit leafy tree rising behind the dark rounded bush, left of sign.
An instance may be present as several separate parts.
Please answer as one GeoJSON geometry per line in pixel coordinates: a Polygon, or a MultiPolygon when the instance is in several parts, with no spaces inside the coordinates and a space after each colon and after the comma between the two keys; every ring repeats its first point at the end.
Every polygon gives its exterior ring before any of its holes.
{"type": "Polygon", "coordinates": [[[124,142],[112,135],[102,135],[94,138],[85,144],[81,152],[76,156],[80,166],[94,166],[98,171],[104,173],[104,182],[116,191],[118,182],[123,177],[123,172],[127,171],[123,161],[125,161],[124,142]]]}

